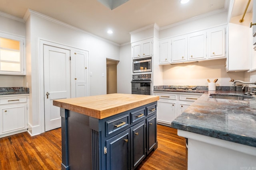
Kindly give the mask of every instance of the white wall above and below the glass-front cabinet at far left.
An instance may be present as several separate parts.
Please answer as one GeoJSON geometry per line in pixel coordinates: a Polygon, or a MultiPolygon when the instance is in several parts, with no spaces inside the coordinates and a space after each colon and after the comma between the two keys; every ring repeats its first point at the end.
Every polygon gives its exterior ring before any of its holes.
{"type": "MultiPolygon", "coordinates": [[[[0,15],[0,32],[25,37],[25,23],[0,15]]],[[[0,74],[0,87],[23,87],[23,77],[0,74]]]]}

